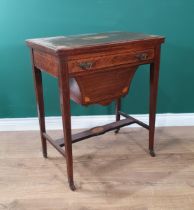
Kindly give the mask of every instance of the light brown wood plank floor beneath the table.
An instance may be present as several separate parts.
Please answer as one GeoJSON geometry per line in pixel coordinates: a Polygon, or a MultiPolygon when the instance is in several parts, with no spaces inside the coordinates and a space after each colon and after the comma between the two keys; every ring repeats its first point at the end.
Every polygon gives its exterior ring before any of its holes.
{"type": "Polygon", "coordinates": [[[64,158],[51,146],[42,157],[39,132],[1,132],[0,209],[193,210],[194,128],[158,128],[155,158],[147,134],[121,129],[74,144],[72,192],[64,158]]]}

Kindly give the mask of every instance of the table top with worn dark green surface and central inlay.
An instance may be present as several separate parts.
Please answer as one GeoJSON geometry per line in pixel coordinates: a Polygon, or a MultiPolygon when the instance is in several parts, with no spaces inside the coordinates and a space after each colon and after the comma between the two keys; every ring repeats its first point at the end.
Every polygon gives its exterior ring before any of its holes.
{"type": "Polygon", "coordinates": [[[57,36],[38,39],[28,39],[27,44],[41,46],[53,51],[83,48],[89,46],[100,46],[106,44],[118,44],[134,41],[146,41],[164,37],[131,32],[108,32],[98,34],[83,34],[74,36],[57,36]]]}

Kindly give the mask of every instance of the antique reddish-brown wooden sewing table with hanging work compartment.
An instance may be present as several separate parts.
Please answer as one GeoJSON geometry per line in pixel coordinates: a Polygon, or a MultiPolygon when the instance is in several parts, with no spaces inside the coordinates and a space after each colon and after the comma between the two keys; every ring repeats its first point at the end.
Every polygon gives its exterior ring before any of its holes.
{"type": "Polygon", "coordinates": [[[26,41],[31,49],[37,109],[43,156],[50,142],[65,158],[71,190],[73,180],[72,144],[137,123],[149,130],[149,152],[154,153],[156,100],[159,79],[160,48],[164,37],[129,32],[59,36],[26,41]],[[150,64],[149,125],[121,111],[121,98],[128,93],[138,66],[150,64]],[[52,139],[45,128],[41,72],[58,79],[63,122],[63,139],[52,139]],[[70,99],[82,105],[108,105],[116,102],[116,120],[81,133],[71,133],[70,99]],[[124,119],[120,119],[123,116],[124,119]],[[63,149],[64,147],[64,149],[63,149]]]}

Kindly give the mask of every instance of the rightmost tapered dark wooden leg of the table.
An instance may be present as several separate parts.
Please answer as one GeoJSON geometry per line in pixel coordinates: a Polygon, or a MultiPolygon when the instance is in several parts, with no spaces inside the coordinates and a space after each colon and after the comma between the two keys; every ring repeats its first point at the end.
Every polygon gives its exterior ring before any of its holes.
{"type": "Polygon", "coordinates": [[[156,105],[158,93],[159,80],[159,66],[160,66],[160,47],[156,48],[155,61],[150,64],[150,113],[149,113],[149,151],[152,157],[154,153],[154,134],[155,134],[155,119],[156,119],[156,105]]]}

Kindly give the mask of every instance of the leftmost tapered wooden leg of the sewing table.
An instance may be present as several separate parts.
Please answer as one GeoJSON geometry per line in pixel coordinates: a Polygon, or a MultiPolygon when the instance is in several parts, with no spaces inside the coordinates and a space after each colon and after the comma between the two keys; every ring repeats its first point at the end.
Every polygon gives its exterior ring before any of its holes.
{"type": "Polygon", "coordinates": [[[36,103],[37,103],[37,111],[40,125],[40,135],[42,142],[42,153],[45,158],[47,158],[47,142],[43,133],[46,132],[45,129],[45,112],[44,112],[44,97],[43,97],[43,87],[42,87],[42,73],[40,69],[34,66],[33,61],[33,52],[32,52],[32,65],[33,65],[33,76],[34,76],[34,86],[36,93],[36,103]]]}

